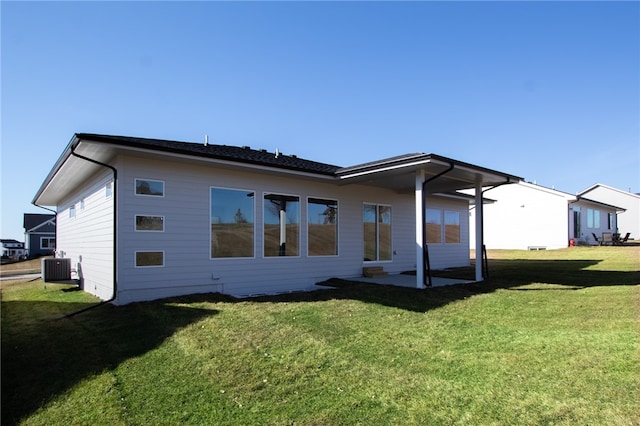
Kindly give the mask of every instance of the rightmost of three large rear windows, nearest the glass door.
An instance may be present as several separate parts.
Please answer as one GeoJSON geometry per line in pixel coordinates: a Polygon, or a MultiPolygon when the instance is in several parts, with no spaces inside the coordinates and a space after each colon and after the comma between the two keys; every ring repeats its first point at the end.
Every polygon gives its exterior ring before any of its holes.
{"type": "Polygon", "coordinates": [[[309,256],[338,254],[338,202],[336,200],[308,199],[307,236],[309,256]]]}

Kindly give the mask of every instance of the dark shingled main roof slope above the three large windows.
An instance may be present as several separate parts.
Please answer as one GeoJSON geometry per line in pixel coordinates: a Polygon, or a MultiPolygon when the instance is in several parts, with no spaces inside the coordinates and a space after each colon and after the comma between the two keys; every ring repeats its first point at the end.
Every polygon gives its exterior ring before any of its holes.
{"type": "Polygon", "coordinates": [[[92,133],[77,133],[78,140],[84,139],[95,142],[104,142],[113,145],[152,149],[174,154],[194,155],[198,157],[214,158],[218,160],[235,161],[241,163],[272,166],[290,170],[310,173],[334,175],[340,167],[332,164],[319,163],[305,160],[295,155],[284,155],[269,152],[266,149],[252,149],[248,146],[228,146],[217,144],[204,144],[194,142],[178,142],[163,139],[135,138],[129,136],[97,135],[92,133]]]}

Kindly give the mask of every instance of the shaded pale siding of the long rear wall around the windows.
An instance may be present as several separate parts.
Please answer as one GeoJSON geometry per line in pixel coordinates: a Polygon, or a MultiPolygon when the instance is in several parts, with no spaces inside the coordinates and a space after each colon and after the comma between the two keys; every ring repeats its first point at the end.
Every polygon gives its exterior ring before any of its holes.
{"type": "MultiPolygon", "coordinates": [[[[239,172],[213,164],[119,159],[118,304],[189,293],[244,296],[314,288],[331,277],[362,274],[363,203],[392,207],[394,257],[381,265],[390,273],[415,269],[414,195],[368,186],[338,186],[302,177],[239,172]],[[136,178],[164,181],[164,197],[136,196],[136,178]],[[210,258],[210,188],[256,192],[255,248],[251,259],[210,258]],[[262,198],[267,192],[300,197],[300,253],[263,257],[262,198]],[[338,256],[307,256],[307,197],[338,201],[338,256]],[[135,215],[164,216],[164,232],[135,232],[135,215]],[[136,251],[163,251],[163,267],[136,268],[136,251]]],[[[432,267],[469,264],[467,203],[442,202],[461,212],[461,244],[431,248],[432,267]]],[[[440,205],[434,204],[430,207],[440,205]]]]}

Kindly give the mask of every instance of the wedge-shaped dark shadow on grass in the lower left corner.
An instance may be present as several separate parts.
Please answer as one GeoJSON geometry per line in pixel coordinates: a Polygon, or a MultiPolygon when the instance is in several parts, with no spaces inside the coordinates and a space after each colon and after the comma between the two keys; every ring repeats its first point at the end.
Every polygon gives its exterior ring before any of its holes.
{"type": "Polygon", "coordinates": [[[217,313],[160,301],[104,305],[61,318],[91,305],[2,302],[3,425],[19,423],[83,379],[142,355],[180,328],[217,313]]]}

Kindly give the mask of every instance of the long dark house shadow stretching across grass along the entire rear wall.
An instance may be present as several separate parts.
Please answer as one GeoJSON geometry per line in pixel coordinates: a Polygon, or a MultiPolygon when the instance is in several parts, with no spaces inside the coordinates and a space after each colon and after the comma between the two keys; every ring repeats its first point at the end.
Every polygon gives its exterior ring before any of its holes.
{"type": "MultiPolygon", "coordinates": [[[[218,313],[216,310],[180,307],[176,306],[177,303],[358,300],[427,312],[499,289],[535,289],[537,287],[527,286],[536,283],[553,284],[553,289],[574,291],[594,286],[640,284],[640,272],[601,271],[595,269],[598,263],[591,260],[490,260],[490,278],[481,283],[419,290],[331,279],[321,283],[319,290],[313,292],[248,299],[216,293],[199,294],[123,307],[105,305],[59,320],[54,318],[89,304],[3,301],[2,424],[19,422],[83,379],[142,355],[160,346],[177,330],[218,313]]],[[[473,279],[474,269],[450,269],[438,271],[435,275],[473,279]]]]}

